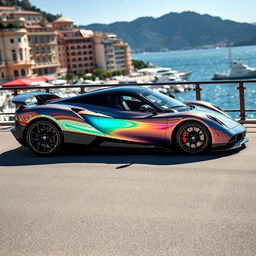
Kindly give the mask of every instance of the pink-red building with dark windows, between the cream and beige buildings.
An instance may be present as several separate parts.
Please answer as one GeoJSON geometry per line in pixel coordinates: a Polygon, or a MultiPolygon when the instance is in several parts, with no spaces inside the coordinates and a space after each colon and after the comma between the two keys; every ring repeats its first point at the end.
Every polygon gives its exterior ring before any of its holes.
{"type": "Polygon", "coordinates": [[[93,32],[75,28],[74,23],[64,17],[54,21],[53,28],[58,33],[61,67],[73,73],[92,72],[96,67],[93,32]]]}

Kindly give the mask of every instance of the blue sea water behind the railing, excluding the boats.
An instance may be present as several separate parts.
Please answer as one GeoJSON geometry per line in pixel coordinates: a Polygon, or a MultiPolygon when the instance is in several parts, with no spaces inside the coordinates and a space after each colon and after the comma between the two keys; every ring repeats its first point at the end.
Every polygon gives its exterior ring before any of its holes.
{"type": "MultiPolygon", "coordinates": [[[[256,67],[256,46],[232,47],[232,59],[256,67]]],[[[209,81],[216,72],[229,70],[230,58],[227,48],[184,50],[133,54],[133,59],[151,62],[158,67],[193,72],[189,81],[209,81]]],[[[256,78],[255,78],[256,80],[256,78]]],[[[214,103],[223,109],[239,109],[237,84],[202,85],[202,100],[214,103]]],[[[195,92],[176,93],[181,101],[195,99],[195,92]]],[[[247,109],[256,109],[256,84],[246,84],[247,109]]],[[[239,113],[232,114],[238,118],[239,113]]],[[[256,118],[256,113],[247,113],[247,118],[256,118]]]]}

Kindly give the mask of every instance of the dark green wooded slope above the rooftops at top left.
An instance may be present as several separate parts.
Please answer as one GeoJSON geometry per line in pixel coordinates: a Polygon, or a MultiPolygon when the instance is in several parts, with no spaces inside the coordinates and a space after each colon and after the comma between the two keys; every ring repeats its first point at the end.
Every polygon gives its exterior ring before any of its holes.
{"type": "Polygon", "coordinates": [[[18,6],[24,10],[42,12],[44,17],[49,22],[52,22],[56,20],[58,17],[60,17],[60,15],[54,15],[48,12],[44,12],[41,9],[37,8],[36,6],[31,5],[29,0],[0,0],[0,6],[18,6]]]}

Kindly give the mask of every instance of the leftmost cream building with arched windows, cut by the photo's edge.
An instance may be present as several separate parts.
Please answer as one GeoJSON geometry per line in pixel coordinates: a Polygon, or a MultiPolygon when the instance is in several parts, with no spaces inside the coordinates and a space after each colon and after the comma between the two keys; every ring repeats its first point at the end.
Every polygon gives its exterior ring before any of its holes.
{"type": "Polygon", "coordinates": [[[17,28],[0,29],[0,79],[13,80],[32,76],[28,33],[22,27],[25,20],[16,21],[17,28]]]}

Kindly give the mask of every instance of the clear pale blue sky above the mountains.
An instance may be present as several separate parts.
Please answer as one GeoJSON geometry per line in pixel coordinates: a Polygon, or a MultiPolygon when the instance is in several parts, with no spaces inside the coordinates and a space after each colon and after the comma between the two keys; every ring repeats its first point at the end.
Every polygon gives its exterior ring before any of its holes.
{"type": "Polygon", "coordinates": [[[30,0],[40,9],[62,14],[77,25],[132,21],[169,12],[195,11],[239,22],[256,22],[256,0],[30,0]]]}

